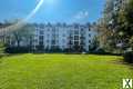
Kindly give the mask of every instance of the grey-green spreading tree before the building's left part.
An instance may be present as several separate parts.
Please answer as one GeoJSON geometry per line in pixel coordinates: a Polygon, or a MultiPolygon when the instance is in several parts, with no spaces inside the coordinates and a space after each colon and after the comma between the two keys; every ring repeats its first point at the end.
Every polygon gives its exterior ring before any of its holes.
{"type": "Polygon", "coordinates": [[[29,52],[32,48],[33,41],[33,24],[21,26],[20,28],[8,30],[6,34],[7,39],[7,52],[16,53],[16,52],[29,52]]]}

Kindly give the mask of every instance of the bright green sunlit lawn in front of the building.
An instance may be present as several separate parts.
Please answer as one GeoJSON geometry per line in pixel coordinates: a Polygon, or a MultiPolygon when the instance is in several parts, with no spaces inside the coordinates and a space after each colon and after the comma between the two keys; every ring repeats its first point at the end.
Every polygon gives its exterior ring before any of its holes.
{"type": "Polygon", "coordinates": [[[122,57],[18,55],[0,59],[0,89],[122,89],[133,67],[122,57]]]}

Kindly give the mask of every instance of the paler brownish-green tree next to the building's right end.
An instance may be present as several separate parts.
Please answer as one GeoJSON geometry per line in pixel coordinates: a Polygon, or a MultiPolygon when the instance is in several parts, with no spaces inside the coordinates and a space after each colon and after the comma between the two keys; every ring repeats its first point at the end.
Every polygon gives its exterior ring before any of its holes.
{"type": "Polygon", "coordinates": [[[112,52],[115,47],[114,38],[114,27],[115,27],[115,18],[114,13],[114,1],[115,0],[106,0],[103,18],[101,18],[98,22],[99,26],[99,40],[100,47],[109,52],[112,52]]]}

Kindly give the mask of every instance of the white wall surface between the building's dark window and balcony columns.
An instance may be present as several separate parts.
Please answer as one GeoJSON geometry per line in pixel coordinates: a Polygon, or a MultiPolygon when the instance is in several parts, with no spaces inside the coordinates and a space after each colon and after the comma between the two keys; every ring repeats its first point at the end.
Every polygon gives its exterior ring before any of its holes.
{"type": "MultiPolygon", "coordinates": [[[[43,46],[44,48],[48,48],[49,49],[52,49],[52,39],[54,39],[52,37],[52,34],[55,34],[55,46],[59,46],[61,49],[66,49],[69,48],[69,37],[70,37],[70,33],[74,30],[78,30],[80,32],[80,36],[81,37],[81,29],[83,29],[83,37],[85,38],[83,41],[84,41],[84,49],[86,51],[89,51],[89,46],[90,46],[90,41],[93,40],[94,36],[96,34],[95,30],[93,30],[93,28],[90,28],[89,30],[89,27],[88,26],[79,26],[79,28],[74,28],[74,26],[65,26],[65,27],[62,27],[62,26],[44,26],[43,28],[42,27],[37,27],[35,31],[34,31],[34,40],[35,42],[33,43],[34,46],[38,46],[39,44],[39,36],[43,36],[44,37],[44,40],[43,40],[43,46]],[[55,29],[55,32],[53,32],[53,29],[55,29]],[[44,33],[43,34],[40,34],[40,30],[42,30],[44,33]],[[48,42],[49,40],[49,42],[48,42]],[[89,41],[90,40],[90,41],[89,41]]],[[[74,36],[74,34],[73,34],[74,36]]]]}

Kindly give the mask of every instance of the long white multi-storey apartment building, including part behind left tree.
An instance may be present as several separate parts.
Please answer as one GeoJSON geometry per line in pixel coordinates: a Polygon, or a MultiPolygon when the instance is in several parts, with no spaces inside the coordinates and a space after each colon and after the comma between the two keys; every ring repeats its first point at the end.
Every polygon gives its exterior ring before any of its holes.
{"type": "MultiPolygon", "coordinates": [[[[22,31],[4,33],[6,27],[1,27],[0,37],[9,43],[10,47],[29,47],[38,51],[66,50],[89,51],[94,37],[98,34],[95,24],[66,24],[66,23],[41,23],[28,24],[32,37],[24,29],[22,31]],[[32,28],[30,28],[32,27],[32,28]],[[18,34],[17,34],[18,33],[18,34]],[[23,36],[24,34],[24,36],[23,36]],[[19,40],[20,39],[20,40],[19,40]]],[[[11,30],[10,30],[11,31],[11,30]]]]}

